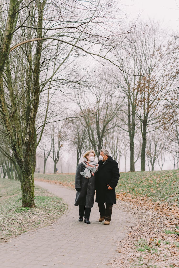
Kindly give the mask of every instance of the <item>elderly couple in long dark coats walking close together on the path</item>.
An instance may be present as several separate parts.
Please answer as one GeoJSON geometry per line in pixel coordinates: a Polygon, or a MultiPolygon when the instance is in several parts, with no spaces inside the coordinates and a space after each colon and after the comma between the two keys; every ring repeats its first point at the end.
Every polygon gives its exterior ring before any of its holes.
{"type": "Polygon", "coordinates": [[[98,203],[100,218],[109,225],[111,221],[112,205],[116,204],[115,187],[119,180],[118,163],[109,156],[106,149],[100,150],[99,162],[94,162],[95,152],[87,151],[84,160],[77,166],[75,176],[76,199],[75,206],[79,206],[79,221],[90,224],[90,212],[94,203],[98,203]],[[106,207],[104,205],[106,203],[106,207]]]}

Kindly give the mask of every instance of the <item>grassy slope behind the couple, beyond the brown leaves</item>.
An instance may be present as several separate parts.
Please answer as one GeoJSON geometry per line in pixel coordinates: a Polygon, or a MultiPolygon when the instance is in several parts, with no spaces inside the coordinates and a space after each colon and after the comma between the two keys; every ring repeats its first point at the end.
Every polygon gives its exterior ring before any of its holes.
{"type": "MultiPolygon", "coordinates": [[[[75,174],[38,174],[36,179],[57,181],[75,188],[75,174]]],[[[179,170],[122,172],[116,193],[146,196],[152,201],[176,203],[179,206],[179,170]]]]}

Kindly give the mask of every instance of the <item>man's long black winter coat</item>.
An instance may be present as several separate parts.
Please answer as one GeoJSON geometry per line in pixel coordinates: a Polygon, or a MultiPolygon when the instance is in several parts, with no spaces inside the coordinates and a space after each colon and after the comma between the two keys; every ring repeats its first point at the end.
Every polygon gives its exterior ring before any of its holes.
{"type": "Polygon", "coordinates": [[[118,163],[108,157],[106,162],[99,161],[98,172],[96,173],[96,202],[97,203],[113,203],[116,204],[115,187],[119,180],[119,168],[118,163]],[[112,190],[108,190],[108,186],[112,187],[112,190]]]}

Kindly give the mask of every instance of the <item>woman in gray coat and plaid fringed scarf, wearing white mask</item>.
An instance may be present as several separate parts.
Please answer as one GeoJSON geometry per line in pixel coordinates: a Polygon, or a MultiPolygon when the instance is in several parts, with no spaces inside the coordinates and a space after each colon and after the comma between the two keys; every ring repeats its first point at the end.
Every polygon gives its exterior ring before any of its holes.
{"type": "Polygon", "coordinates": [[[89,217],[91,208],[94,203],[95,192],[95,173],[98,170],[99,164],[94,162],[95,152],[87,151],[83,156],[84,160],[78,164],[75,176],[76,199],[75,206],[79,206],[79,219],[90,224],[89,217]]]}

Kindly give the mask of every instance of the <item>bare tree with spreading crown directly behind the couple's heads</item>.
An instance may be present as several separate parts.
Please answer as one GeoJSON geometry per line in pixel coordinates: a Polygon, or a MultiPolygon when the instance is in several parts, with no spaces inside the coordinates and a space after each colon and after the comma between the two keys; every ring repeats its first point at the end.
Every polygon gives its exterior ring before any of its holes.
{"type": "Polygon", "coordinates": [[[122,106],[123,99],[116,94],[113,81],[105,72],[99,72],[94,77],[96,83],[86,95],[76,95],[76,102],[84,118],[84,128],[93,149],[99,156],[99,150],[103,147],[105,136],[114,128],[112,120],[117,117],[122,106]],[[86,116],[85,116],[86,114],[86,116]]]}

